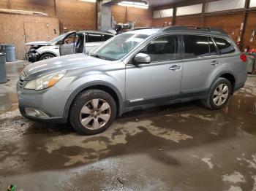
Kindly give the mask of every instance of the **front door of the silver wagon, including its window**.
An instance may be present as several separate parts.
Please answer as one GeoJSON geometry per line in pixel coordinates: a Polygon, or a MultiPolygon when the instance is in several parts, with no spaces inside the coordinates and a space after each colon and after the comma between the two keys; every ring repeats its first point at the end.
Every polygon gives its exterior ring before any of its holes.
{"type": "Polygon", "coordinates": [[[132,60],[127,64],[128,106],[180,98],[183,63],[180,57],[179,42],[178,35],[158,37],[139,51],[150,55],[151,63],[136,64],[132,60]]]}

